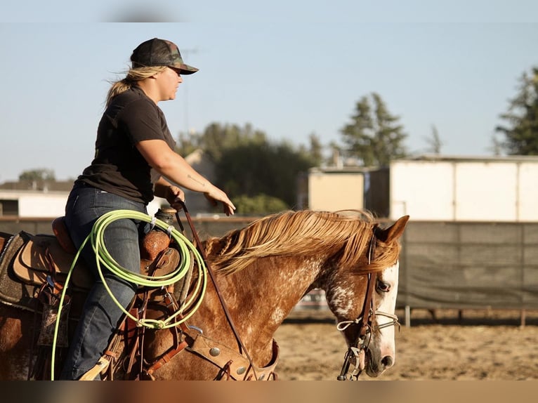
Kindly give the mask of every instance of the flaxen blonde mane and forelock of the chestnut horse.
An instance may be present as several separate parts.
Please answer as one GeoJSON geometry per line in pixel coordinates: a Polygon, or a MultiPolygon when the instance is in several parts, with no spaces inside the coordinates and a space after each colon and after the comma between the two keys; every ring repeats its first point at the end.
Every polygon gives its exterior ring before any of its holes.
{"type": "Polygon", "coordinates": [[[376,226],[368,211],[283,211],[230,231],[222,238],[208,239],[206,254],[211,255],[213,267],[225,275],[268,256],[328,257],[337,253],[335,263],[339,266],[358,267],[362,258],[362,273],[376,272],[393,265],[400,253],[398,242],[385,245],[378,239],[372,244],[372,260],[365,263],[368,258],[364,253],[374,239],[376,226]]]}

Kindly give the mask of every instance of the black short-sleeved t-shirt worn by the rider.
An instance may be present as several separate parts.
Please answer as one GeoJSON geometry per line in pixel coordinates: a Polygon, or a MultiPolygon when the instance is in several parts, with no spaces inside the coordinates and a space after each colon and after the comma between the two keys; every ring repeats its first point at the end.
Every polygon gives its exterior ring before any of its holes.
{"type": "Polygon", "coordinates": [[[133,86],[114,97],[98,126],[96,155],[77,182],[145,204],[153,199],[159,173],[138,150],[142,140],[164,140],[176,146],[162,110],[133,86]]]}

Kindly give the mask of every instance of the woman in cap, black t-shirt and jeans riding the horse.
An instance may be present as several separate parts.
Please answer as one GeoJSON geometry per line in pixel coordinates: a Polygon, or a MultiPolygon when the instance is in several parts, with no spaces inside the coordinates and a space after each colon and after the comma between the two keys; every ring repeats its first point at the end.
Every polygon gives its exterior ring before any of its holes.
{"type": "MultiPolygon", "coordinates": [[[[65,208],[65,224],[77,248],[104,213],[120,209],[146,212],[147,204],[164,197],[171,206],[184,199],[183,190],[203,192],[210,202],[222,202],[223,211],[233,214],[228,196],[174,152],[173,140],[161,101],[176,98],[183,74],[197,72],[185,65],[178,46],[163,39],[140,44],[131,55],[132,68],[126,78],[112,84],[107,108],[98,126],[95,158],[75,181],[65,208]],[[170,182],[169,182],[170,181],[170,182]]],[[[105,243],[114,260],[132,272],[140,271],[138,242],[146,223],[124,219],[107,228],[105,243]]],[[[86,263],[96,269],[95,255],[86,246],[86,263]]],[[[78,379],[93,368],[107,348],[110,336],[122,316],[97,272],[84,313],[60,378],[78,379]]],[[[105,274],[114,297],[126,308],[135,287],[111,272],[105,274]]]]}

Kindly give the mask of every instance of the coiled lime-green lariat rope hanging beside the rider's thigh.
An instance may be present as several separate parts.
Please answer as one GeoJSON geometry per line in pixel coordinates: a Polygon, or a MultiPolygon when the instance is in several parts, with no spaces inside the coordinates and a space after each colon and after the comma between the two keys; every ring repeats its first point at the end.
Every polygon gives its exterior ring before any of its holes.
{"type": "Polygon", "coordinates": [[[148,216],[145,213],[140,213],[138,211],[133,210],[115,210],[110,211],[109,213],[103,214],[103,216],[100,216],[98,220],[96,220],[96,223],[93,224],[93,227],[91,229],[90,234],[88,234],[88,237],[84,239],[84,242],[82,242],[79,250],[77,251],[77,254],[74,256],[73,263],[70,267],[69,272],[67,273],[67,278],[65,279],[65,286],[62,290],[62,294],[60,297],[60,305],[58,306],[58,315],[56,317],[56,324],[54,329],[54,338],[53,338],[53,348],[52,348],[52,357],[51,357],[51,381],[54,380],[54,364],[55,364],[55,348],[56,348],[56,339],[58,337],[58,328],[60,324],[60,314],[62,312],[63,307],[63,301],[65,298],[65,292],[67,291],[67,286],[70,282],[72,271],[74,269],[74,266],[77,263],[77,260],[79,259],[80,253],[82,249],[84,249],[84,246],[86,245],[86,242],[88,242],[88,239],[91,242],[91,247],[96,255],[96,265],[97,270],[99,273],[100,279],[103,281],[103,284],[105,285],[105,289],[107,289],[108,293],[110,294],[110,297],[112,300],[114,300],[114,303],[116,303],[119,308],[124,312],[124,314],[131,318],[134,322],[136,322],[137,326],[146,326],[150,329],[167,329],[174,326],[178,326],[178,324],[181,324],[185,322],[187,319],[189,319],[199,308],[199,305],[202,303],[202,299],[204,297],[204,293],[206,291],[206,285],[207,285],[207,277],[206,277],[206,265],[204,263],[204,260],[202,256],[200,256],[199,251],[196,249],[196,247],[190,242],[181,232],[176,230],[176,228],[172,227],[171,225],[164,223],[164,221],[159,220],[158,218],[154,218],[151,216],[148,216]],[[176,244],[178,245],[178,250],[181,256],[180,263],[178,267],[176,267],[176,270],[169,273],[168,275],[163,276],[146,276],[142,275],[140,273],[133,273],[129,270],[126,270],[124,267],[120,266],[112,256],[110,256],[110,253],[108,253],[106,247],[105,247],[105,230],[110,223],[114,222],[115,220],[124,220],[124,219],[131,219],[131,220],[140,220],[145,221],[146,223],[152,223],[152,225],[155,225],[155,227],[160,228],[161,230],[164,230],[165,232],[170,234],[170,237],[176,241],[176,244]],[[197,283],[195,286],[194,292],[192,292],[190,295],[190,298],[185,301],[185,304],[183,307],[180,308],[177,312],[175,312],[173,315],[171,315],[169,318],[165,320],[158,320],[158,319],[139,319],[136,317],[133,317],[131,313],[129,313],[114,297],[112,294],[112,291],[110,291],[109,286],[107,285],[107,282],[105,281],[105,277],[103,276],[103,269],[104,266],[107,270],[110,270],[110,272],[114,273],[117,277],[124,279],[128,282],[131,282],[133,284],[136,284],[137,286],[147,286],[147,287],[164,287],[164,286],[170,286],[171,284],[174,284],[181,280],[185,275],[187,274],[190,264],[191,264],[191,258],[190,258],[190,252],[192,252],[192,255],[195,257],[195,261],[197,263],[198,267],[198,277],[197,277],[197,283]],[[185,308],[188,308],[188,312],[185,313],[185,308]],[[178,315],[181,315],[181,319],[177,320],[176,322],[173,322],[178,315]]]}

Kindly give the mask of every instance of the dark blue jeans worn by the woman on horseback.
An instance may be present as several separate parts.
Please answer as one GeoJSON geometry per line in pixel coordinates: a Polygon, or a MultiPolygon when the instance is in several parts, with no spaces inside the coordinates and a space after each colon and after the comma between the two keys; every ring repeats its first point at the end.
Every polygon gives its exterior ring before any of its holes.
{"type": "MultiPolygon", "coordinates": [[[[93,223],[104,213],[127,209],[147,213],[145,204],[134,202],[116,194],[98,190],[88,185],[75,185],[65,206],[65,224],[74,245],[79,248],[91,232],[93,223]]],[[[139,220],[115,220],[105,229],[105,247],[110,256],[131,272],[140,272],[139,239],[147,230],[147,223],[139,220]]],[[[78,379],[93,368],[110,343],[123,312],[110,298],[101,281],[95,253],[88,240],[81,253],[96,279],[88,294],[74,338],[70,343],[60,379],[78,379]]],[[[130,284],[112,274],[101,265],[107,286],[118,302],[127,308],[136,292],[136,284],[130,284]]]]}

